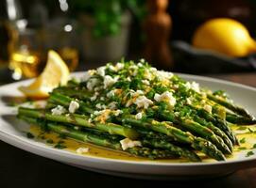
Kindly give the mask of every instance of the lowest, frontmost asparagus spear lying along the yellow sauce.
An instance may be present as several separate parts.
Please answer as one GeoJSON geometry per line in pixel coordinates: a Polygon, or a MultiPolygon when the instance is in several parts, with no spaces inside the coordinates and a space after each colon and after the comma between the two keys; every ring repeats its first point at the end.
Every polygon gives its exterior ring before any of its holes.
{"type": "MultiPolygon", "coordinates": [[[[37,121],[36,118],[26,118],[24,116],[21,116],[20,118],[25,119],[29,123],[35,123],[35,124],[40,124],[39,121],[37,121]]],[[[108,149],[115,149],[115,150],[121,150],[123,151],[120,142],[108,139],[106,137],[93,134],[93,133],[86,133],[86,132],[80,132],[76,131],[74,129],[70,129],[66,126],[56,124],[56,123],[46,123],[47,128],[55,133],[60,133],[61,135],[66,135],[67,137],[74,138],[77,140],[80,140],[82,142],[89,142],[93,143],[97,146],[102,146],[106,147],[108,149]]],[[[174,154],[170,150],[163,150],[163,149],[149,149],[145,147],[133,147],[133,148],[128,148],[125,150],[126,152],[136,155],[136,156],[141,156],[141,157],[147,157],[150,159],[162,159],[162,158],[176,158],[177,155],[174,154]]]]}

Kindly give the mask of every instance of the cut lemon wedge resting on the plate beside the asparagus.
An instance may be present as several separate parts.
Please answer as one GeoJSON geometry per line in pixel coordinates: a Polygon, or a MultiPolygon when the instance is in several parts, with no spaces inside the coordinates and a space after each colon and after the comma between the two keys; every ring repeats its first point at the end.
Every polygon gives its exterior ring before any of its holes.
{"type": "Polygon", "coordinates": [[[47,98],[57,86],[63,86],[67,83],[69,78],[69,70],[60,55],[53,50],[48,52],[46,66],[42,74],[29,86],[20,86],[26,97],[29,98],[47,98]]]}

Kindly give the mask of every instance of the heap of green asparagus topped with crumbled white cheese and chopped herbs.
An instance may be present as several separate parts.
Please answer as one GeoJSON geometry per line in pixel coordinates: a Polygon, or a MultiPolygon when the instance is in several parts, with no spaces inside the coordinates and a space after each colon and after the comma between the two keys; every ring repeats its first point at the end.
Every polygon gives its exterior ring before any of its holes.
{"type": "Polygon", "coordinates": [[[43,109],[18,117],[43,130],[150,159],[223,161],[238,145],[231,124],[255,124],[224,91],[158,71],[144,59],[109,63],[54,89],[43,109]]]}

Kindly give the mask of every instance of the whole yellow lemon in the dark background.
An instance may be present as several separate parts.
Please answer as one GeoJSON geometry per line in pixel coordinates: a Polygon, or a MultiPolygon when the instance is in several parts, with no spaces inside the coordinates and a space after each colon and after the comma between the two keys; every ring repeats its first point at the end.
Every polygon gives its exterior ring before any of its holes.
{"type": "Polygon", "coordinates": [[[256,52],[256,42],[247,28],[228,18],[212,19],[199,26],[192,43],[196,48],[235,57],[256,52]]]}

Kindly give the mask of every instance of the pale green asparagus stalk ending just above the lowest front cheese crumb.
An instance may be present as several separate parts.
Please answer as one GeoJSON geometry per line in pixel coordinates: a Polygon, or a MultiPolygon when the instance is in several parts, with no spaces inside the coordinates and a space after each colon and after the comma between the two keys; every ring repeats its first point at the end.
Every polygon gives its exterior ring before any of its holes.
{"type": "Polygon", "coordinates": [[[86,116],[70,114],[69,116],[65,115],[52,115],[51,113],[45,112],[43,110],[30,109],[25,107],[20,107],[18,109],[18,113],[20,116],[26,116],[30,118],[43,118],[51,121],[57,122],[65,122],[71,123],[75,125],[80,125],[84,127],[94,128],[101,130],[106,133],[118,134],[128,137],[130,139],[136,139],[138,137],[138,133],[135,130],[129,129],[127,127],[123,127],[121,125],[117,125],[114,123],[91,123],[88,121],[86,116]]]}

